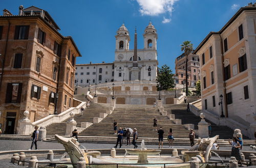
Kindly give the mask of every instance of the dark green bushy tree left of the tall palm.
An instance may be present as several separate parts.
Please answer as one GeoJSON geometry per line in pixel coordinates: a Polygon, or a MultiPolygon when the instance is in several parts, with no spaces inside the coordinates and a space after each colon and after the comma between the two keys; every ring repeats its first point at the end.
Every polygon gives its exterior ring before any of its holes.
{"type": "Polygon", "coordinates": [[[159,68],[159,72],[156,78],[157,90],[168,90],[174,88],[173,71],[167,65],[163,65],[159,68]]]}

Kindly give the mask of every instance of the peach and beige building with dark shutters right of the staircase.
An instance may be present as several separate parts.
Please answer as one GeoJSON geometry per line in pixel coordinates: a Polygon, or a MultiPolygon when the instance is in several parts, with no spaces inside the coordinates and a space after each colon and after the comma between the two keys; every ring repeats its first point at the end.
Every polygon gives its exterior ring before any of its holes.
{"type": "Polygon", "coordinates": [[[255,23],[256,6],[249,4],[219,32],[210,32],[193,52],[200,55],[202,111],[206,118],[240,128],[251,138],[256,126],[255,23]],[[220,118],[224,117],[222,107],[225,118],[220,118]]]}

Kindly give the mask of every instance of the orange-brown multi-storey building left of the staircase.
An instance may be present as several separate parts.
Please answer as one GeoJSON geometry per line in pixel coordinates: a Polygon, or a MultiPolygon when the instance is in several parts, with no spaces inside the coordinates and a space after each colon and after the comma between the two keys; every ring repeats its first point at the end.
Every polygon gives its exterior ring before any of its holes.
{"type": "Polygon", "coordinates": [[[71,37],[63,37],[45,10],[19,7],[0,16],[0,124],[15,133],[23,112],[31,122],[72,106],[76,57],[71,37]],[[57,93],[57,94],[56,94],[57,93]]]}

